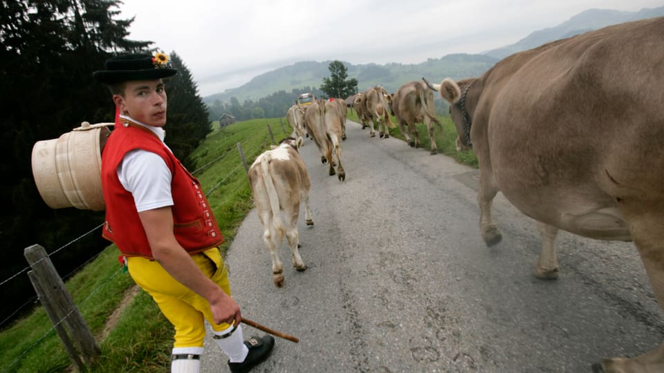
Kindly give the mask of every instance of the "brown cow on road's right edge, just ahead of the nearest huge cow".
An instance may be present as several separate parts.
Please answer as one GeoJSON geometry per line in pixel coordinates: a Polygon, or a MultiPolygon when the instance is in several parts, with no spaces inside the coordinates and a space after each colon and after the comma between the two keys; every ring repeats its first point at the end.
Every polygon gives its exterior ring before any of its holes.
{"type": "Polygon", "coordinates": [[[409,82],[401,86],[391,96],[390,108],[392,115],[396,117],[399,130],[410,146],[420,147],[420,138],[416,123],[424,122],[431,140],[431,154],[438,153],[436,139],[434,138],[434,126],[437,124],[441,130],[443,126],[434,113],[434,93],[427,89],[424,82],[409,82]],[[404,129],[406,124],[407,130],[404,129]]]}

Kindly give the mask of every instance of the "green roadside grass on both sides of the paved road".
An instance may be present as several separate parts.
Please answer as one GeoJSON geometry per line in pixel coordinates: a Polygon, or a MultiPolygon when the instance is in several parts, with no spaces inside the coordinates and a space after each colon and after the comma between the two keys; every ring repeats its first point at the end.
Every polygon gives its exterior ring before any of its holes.
{"type": "MultiPolygon", "coordinates": [[[[349,113],[349,119],[357,121],[354,113],[349,113]]],[[[439,119],[444,128],[443,133],[436,130],[439,152],[451,155],[457,162],[477,166],[477,158],[472,152],[457,153],[455,150],[456,133],[450,119],[439,119]]],[[[392,121],[396,123],[394,118],[392,121]]],[[[285,120],[283,122],[286,133],[278,118],[254,119],[221,129],[217,125],[192,155],[196,169],[190,171],[201,181],[226,238],[222,246],[223,254],[239,224],[252,209],[251,191],[237,144],[241,144],[250,165],[272,143],[267,123],[277,142],[291,133],[292,128],[285,120]]],[[[420,124],[418,131],[423,146],[430,149],[425,126],[420,124]]],[[[391,129],[391,134],[403,140],[398,128],[391,129]]],[[[109,246],[66,283],[91,331],[98,341],[103,339],[100,341],[102,356],[91,371],[164,372],[170,366],[173,331],[144,291],[139,291],[138,296],[122,309],[118,323],[109,334],[101,337],[109,316],[133,285],[129,274],[124,273],[118,264],[118,254],[114,245],[109,246]]],[[[3,372],[66,372],[70,365],[68,355],[42,307],[37,307],[33,314],[0,333],[0,366],[3,372]]]]}

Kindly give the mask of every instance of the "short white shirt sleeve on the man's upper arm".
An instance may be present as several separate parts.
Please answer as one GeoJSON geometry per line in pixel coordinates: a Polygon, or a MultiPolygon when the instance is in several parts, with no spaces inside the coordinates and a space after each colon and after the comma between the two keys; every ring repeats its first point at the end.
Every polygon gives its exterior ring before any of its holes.
{"type": "Polygon", "coordinates": [[[118,166],[118,178],[133,195],[138,212],[173,206],[171,170],[159,155],[142,149],[130,151],[118,166]]]}

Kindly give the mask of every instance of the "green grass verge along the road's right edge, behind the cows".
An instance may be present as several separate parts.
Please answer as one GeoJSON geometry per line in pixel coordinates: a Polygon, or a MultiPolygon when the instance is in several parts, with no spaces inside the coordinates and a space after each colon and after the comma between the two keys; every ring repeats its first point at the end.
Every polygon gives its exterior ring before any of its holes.
{"type": "MultiPolygon", "coordinates": [[[[457,140],[457,129],[454,127],[452,119],[450,117],[436,117],[443,125],[443,131],[441,131],[441,129],[434,124],[434,128],[436,128],[434,137],[436,140],[436,147],[438,148],[438,152],[454,158],[454,160],[461,164],[477,168],[477,157],[472,151],[457,151],[457,145],[455,143],[457,140]]],[[[396,125],[396,118],[393,116],[390,116],[389,118],[391,122],[394,123],[394,128],[389,129],[389,135],[405,142],[405,137],[403,137],[398,125],[396,125]]],[[[355,111],[348,111],[348,119],[360,123],[358,114],[355,111]]],[[[431,151],[431,141],[429,139],[427,126],[423,123],[416,124],[415,126],[419,135],[418,137],[420,138],[420,144],[423,149],[427,150],[428,153],[428,151],[431,151]]],[[[378,128],[378,126],[374,126],[374,128],[378,128]]]]}

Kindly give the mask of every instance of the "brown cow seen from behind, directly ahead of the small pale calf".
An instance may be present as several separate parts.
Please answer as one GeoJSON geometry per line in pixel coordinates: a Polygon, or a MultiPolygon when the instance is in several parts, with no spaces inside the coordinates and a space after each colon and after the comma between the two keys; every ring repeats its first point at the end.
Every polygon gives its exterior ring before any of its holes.
{"type": "Polygon", "coordinates": [[[339,180],[343,181],[346,179],[346,171],[341,164],[340,139],[343,136],[343,127],[340,118],[339,104],[325,99],[317,99],[306,108],[304,113],[304,125],[318,146],[321,162],[329,163],[329,174],[338,173],[339,180]],[[333,160],[333,153],[336,156],[336,162],[333,160]],[[335,165],[337,166],[336,172],[334,171],[335,165]]]}

